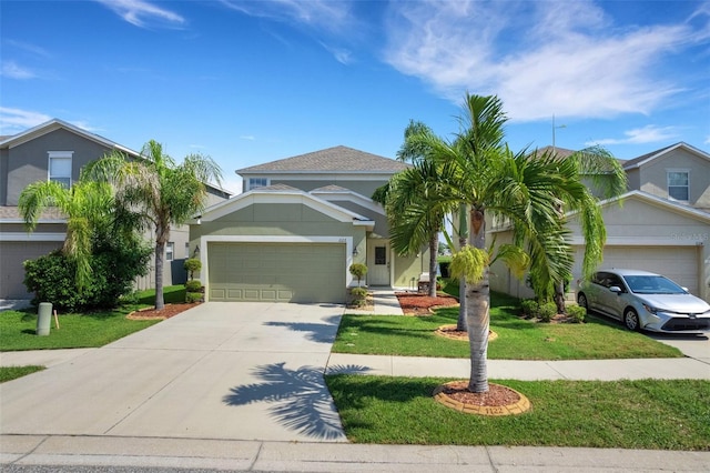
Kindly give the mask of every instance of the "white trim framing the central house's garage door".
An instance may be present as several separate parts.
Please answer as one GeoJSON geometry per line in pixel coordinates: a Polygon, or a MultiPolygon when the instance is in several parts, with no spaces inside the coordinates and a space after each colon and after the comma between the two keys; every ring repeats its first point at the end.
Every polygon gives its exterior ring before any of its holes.
{"type": "Polygon", "coordinates": [[[297,235],[203,235],[200,236],[200,261],[202,262],[205,301],[210,300],[209,243],[332,243],[345,244],[345,286],[353,283],[349,266],[353,264],[353,236],[297,236],[297,235]]]}

